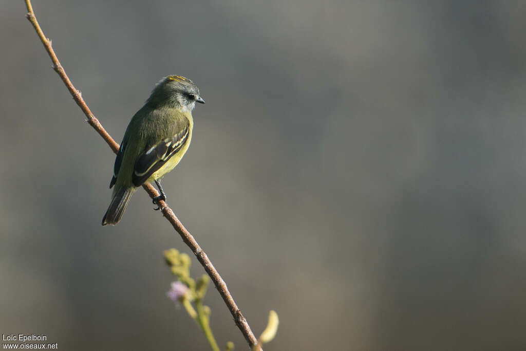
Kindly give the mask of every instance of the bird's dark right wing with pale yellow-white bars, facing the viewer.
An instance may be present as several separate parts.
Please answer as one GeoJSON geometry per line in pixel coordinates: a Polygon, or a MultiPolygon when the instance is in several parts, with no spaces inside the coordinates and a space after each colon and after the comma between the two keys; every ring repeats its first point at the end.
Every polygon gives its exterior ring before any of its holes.
{"type": "Polygon", "coordinates": [[[183,128],[178,129],[173,137],[167,137],[157,144],[145,149],[135,161],[134,173],[131,180],[135,186],[143,184],[152,174],[170,159],[171,156],[185,145],[190,125],[188,121],[183,128]]]}

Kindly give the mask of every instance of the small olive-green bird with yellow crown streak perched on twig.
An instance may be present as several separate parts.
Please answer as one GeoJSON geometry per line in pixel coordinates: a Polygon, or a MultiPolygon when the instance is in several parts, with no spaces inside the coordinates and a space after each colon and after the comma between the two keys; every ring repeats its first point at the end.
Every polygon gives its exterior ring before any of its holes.
{"type": "MultiPolygon", "coordinates": [[[[102,225],[115,225],[137,187],[155,182],[160,195],[153,202],[166,202],[159,180],[181,161],[192,138],[195,103],[204,104],[199,88],[185,77],[167,76],[151,92],[144,106],[131,118],[120,144],[112,181],[112,202],[102,225]]],[[[159,209],[159,205],[155,210],[159,209]]]]}

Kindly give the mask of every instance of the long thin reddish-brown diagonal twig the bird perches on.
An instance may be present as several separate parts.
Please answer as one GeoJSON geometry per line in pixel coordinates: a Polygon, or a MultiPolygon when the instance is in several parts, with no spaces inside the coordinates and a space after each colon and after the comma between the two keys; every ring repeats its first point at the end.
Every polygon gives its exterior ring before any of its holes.
{"type": "MultiPolygon", "coordinates": [[[[60,65],[60,62],[58,61],[57,55],[53,51],[50,39],[46,38],[44,32],[42,32],[42,29],[36,20],[35,13],[33,12],[33,6],[31,5],[31,0],[25,0],[25,2],[28,11],[26,17],[35,28],[35,31],[38,34],[38,37],[40,38],[42,44],[44,44],[44,48],[46,49],[47,53],[49,54],[49,57],[51,58],[51,61],[53,62],[53,69],[60,76],[60,78],[64,82],[64,85],[66,85],[69,93],[73,96],[73,99],[75,100],[77,105],[80,107],[80,109],[82,109],[82,112],[84,112],[84,114],[86,115],[87,122],[95,129],[95,131],[97,131],[97,133],[100,136],[102,136],[102,138],[106,141],[106,143],[113,150],[113,152],[117,153],[119,149],[119,144],[117,144],[115,140],[108,134],[108,132],[106,132],[102,124],[100,124],[98,119],[92,114],[89,107],[84,102],[82,94],[80,94],[80,92],[77,89],[75,89],[75,87],[69,80],[68,76],[66,75],[66,72],[64,71],[64,68],[62,67],[62,65],[60,65]]],[[[144,184],[143,188],[146,190],[146,192],[148,193],[148,195],[150,195],[151,198],[154,198],[159,195],[157,193],[157,190],[151,184],[144,184]]],[[[252,333],[252,330],[250,330],[250,326],[248,325],[247,320],[241,314],[241,311],[234,302],[234,298],[232,298],[232,295],[230,295],[230,292],[228,291],[225,281],[221,278],[216,268],[214,268],[214,265],[210,262],[208,256],[205,254],[203,249],[201,249],[199,244],[197,244],[194,237],[191,236],[188,230],[186,230],[183,224],[179,221],[179,219],[174,214],[174,211],[171,210],[171,208],[168,207],[168,205],[163,200],[160,200],[158,202],[158,205],[161,208],[164,217],[168,219],[168,222],[171,223],[176,232],[179,233],[181,238],[183,238],[185,244],[188,245],[188,247],[192,250],[194,255],[196,255],[201,265],[203,265],[203,267],[205,268],[206,273],[208,273],[208,275],[214,282],[214,285],[219,291],[219,294],[221,295],[221,297],[225,301],[225,304],[230,310],[232,317],[234,317],[236,325],[239,327],[241,333],[247,340],[248,345],[250,347],[256,345],[257,339],[254,336],[254,333],[252,333]]]]}

